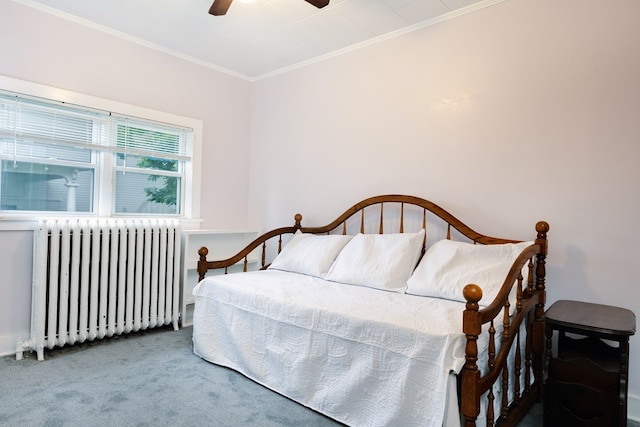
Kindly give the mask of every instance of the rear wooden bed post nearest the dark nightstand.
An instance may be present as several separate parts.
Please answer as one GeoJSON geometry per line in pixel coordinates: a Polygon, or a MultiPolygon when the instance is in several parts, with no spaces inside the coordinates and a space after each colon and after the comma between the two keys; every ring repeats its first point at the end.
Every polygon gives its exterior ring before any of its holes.
{"type": "MultiPolygon", "coordinates": [[[[539,221],[536,224],[536,231],[538,236],[536,238],[536,245],[540,245],[540,252],[536,255],[536,287],[535,292],[539,294],[538,304],[536,305],[534,322],[533,322],[533,370],[535,372],[535,378],[539,378],[540,386],[537,390],[537,399],[542,399],[542,382],[544,378],[544,352],[545,352],[545,333],[544,333],[544,306],[546,304],[546,257],[548,249],[547,232],[549,231],[549,224],[545,221],[539,221]]],[[[538,380],[537,380],[538,381],[538,380]]]]}

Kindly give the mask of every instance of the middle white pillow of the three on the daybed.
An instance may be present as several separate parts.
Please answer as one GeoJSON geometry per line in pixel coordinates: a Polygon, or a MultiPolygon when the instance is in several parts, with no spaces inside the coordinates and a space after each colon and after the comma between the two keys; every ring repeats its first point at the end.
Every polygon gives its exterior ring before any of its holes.
{"type": "Polygon", "coordinates": [[[403,293],[418,262],[418,233],[358,234],[342,249],[326,280],[403,293]]]}

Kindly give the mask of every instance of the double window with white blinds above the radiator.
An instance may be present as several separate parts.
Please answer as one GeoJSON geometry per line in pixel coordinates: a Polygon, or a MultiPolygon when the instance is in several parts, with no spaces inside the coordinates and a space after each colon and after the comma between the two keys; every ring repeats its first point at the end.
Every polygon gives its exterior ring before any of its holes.
{"type": "Polygon", "coordinates": [[[0,93],[0,210],[185,214],[193,130],[0,93]]]}

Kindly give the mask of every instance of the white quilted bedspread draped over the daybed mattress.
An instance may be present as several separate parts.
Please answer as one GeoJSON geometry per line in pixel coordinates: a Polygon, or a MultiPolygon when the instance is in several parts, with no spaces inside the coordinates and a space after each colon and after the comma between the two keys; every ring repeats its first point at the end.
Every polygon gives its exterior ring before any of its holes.
{"type": "Polygon", "coordinates": [[[200,357],[351,426],[443,425],[463,303],[275,270],[193,293],[200,357]]]}

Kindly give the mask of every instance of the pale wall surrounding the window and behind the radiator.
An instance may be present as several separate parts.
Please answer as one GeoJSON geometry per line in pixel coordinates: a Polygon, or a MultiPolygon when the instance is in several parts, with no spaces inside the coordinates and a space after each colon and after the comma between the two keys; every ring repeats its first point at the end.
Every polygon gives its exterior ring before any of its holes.
{"type": "MultiPolygon", "coordinates": [[[[0,76],[202,120],[202,227],[246,226],[250,82],[11,1],[0,2],[0,76]]],[[[31,239],[0,233],[0,354],[29,331],[31,239]]]]}

